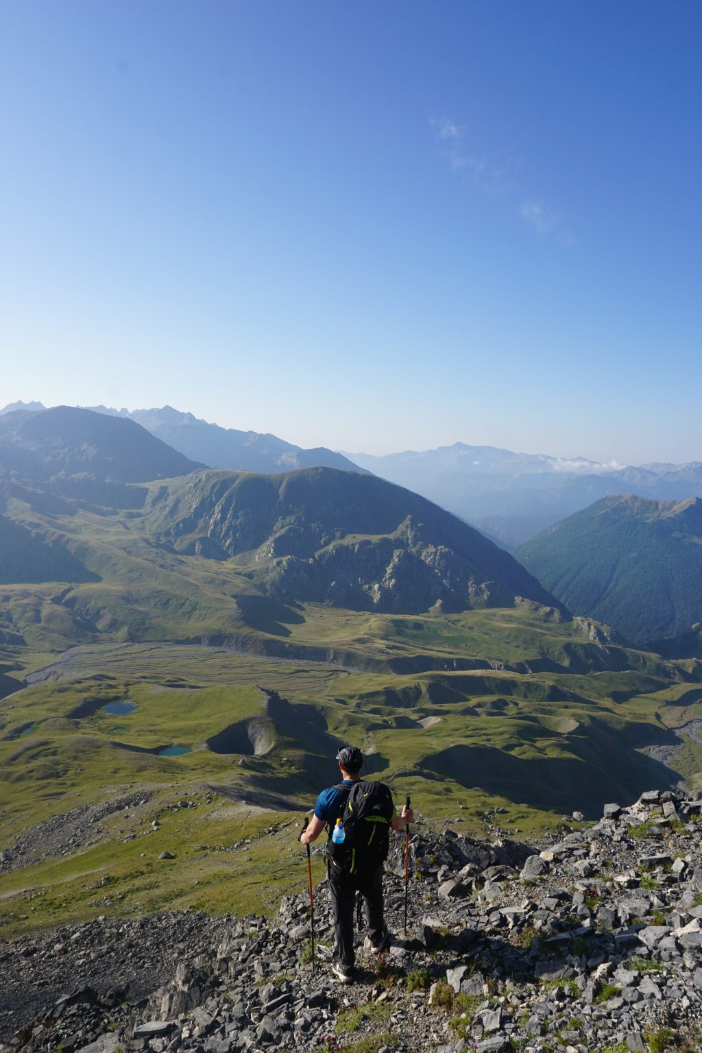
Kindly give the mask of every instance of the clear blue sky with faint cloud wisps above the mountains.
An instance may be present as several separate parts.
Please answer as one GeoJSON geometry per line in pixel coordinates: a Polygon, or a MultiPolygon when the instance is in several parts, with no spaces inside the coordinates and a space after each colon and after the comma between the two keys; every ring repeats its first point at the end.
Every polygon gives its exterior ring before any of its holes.
{"type": "Polygon", "coordinates": [[[0,403],[702,459],[702,5],[4,0],[0,403]]]}

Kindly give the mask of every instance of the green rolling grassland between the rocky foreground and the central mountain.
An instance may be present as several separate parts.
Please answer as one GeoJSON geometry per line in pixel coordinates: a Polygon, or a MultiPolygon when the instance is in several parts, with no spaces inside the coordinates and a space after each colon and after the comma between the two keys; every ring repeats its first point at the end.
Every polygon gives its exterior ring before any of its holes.
{"type": "MultiPolygon", "coordinates": [[[[270,911],[305,876],[281,824],[299,823],[334,778],[340,739],[369,750],[370,773],[399,796],[410,792],[427,820],[460,818],[478,832],[485,812],[502,807],[504,829],[524,834],[573,808],[589,802],[595,812],[607,797],[669,782],[673,773],[637,747],[678,743],[669,728],[702,710],[689,695],[695,662],[595,643],[590,627],[553,611],[390,616],[283,604],[236,561],[156,548],[128,514],[49,515],[18,499],[11,511],[60,532],[100,580],[0,590],[2,693],[79,644],[56,679],[0,701],[0,850],[82,803],[123,791],[153,796],[128,820],[106,820],[97,845],[0,876],[9,932],[168,905],[270,911]],[[129,643],[144,639],[180,645],[129,643]],[[247,653],[187,642],[222,639],[247,653]],[[273,748],[208,751],[214,734],[264,716],[257,686],[292,707],[267,715],[273,748]],[[134,714],[111,718],[99,708],[123,697],[137,703],[134,714]],[[81,703],[92,715],[76,715],[81,703]],[[171,741],[193,752],[167,758],[114,744],[171,741]],[[180,797],[197,808],[164,811],[180,797]],[[281,798],[293,811],[268,809],[281,798]],[[221,851],[242,837],[250,846],[221,851]],[[160,860],[164,849],[176,859],[160,860]]],[[[675,761],[693,784],[701,750],[684,739],[675,761]]]]}

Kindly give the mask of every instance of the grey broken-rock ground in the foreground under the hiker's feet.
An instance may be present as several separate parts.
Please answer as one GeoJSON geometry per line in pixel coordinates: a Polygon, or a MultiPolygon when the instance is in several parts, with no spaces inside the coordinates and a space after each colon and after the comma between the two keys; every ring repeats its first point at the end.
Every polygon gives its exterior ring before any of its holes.
{"type": "MultiPolygon", "coordinates": [[[[394,946],[335,985],[330,906],[265,920],[97,919],[0,942],[3,1051],[663,1053],[700,1050],[702,799],[650,791],[547,843],[419,827],[387,862],[394,946]],[[154,988],[148,989],[148,980],[154,988]]],[[[497,836],[495,836],[497,835],[497,836]]],[[[321,851],[321,849],[315,849],[321,851]]]]}

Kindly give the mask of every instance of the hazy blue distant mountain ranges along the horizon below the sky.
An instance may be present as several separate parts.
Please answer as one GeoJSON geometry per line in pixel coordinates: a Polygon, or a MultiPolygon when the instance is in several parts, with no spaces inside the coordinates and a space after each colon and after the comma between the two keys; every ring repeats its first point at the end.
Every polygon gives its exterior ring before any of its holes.
{"type": "Polygon", "coordinates": [[[637,466],[464,442],[381,456],[335,453],[325,446],[305,451],[270,433],[223,429],[169,405],[94,409],[137,420],[183,455],[210,468],[276,474],[322,465],[370,472],[419,493],[506,549],[613,494],[637,492],[657,500],[702,496],[700,461],[637,466]]]}

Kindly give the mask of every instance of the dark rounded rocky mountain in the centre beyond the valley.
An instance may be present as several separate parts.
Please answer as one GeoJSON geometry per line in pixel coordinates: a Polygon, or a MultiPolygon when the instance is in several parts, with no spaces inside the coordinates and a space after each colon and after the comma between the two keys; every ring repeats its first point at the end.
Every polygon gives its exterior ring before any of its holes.
{"type": "Polygon", "coordinates": [[[401,486],[334,469],[203,472],[152,488],[146,528],[189,555],[234,558],[267,592],[416,613],[558,603],[506,552],[401,486]]]}

